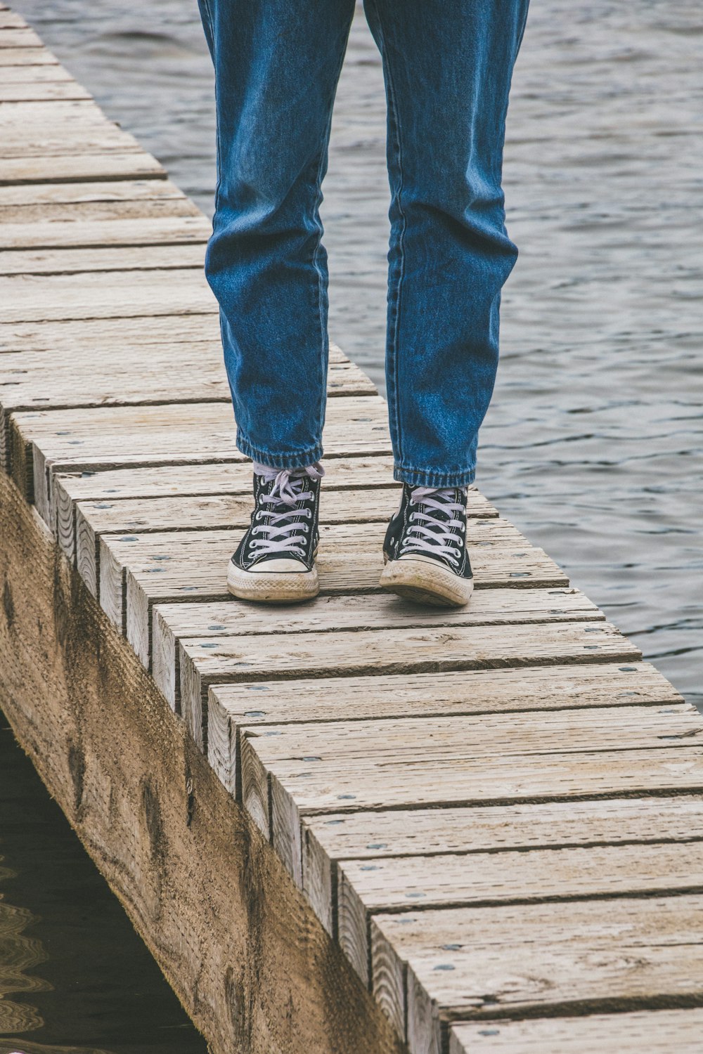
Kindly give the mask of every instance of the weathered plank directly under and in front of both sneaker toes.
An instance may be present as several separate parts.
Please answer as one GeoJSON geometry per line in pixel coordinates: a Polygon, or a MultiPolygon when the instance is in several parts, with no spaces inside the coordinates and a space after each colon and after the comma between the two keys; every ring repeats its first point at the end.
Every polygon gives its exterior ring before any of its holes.
{"type": "MultiPolygon", "coordinates": [[[[329,519],[329,512],[328,512],[329,519]]],[[[251,605],[159,605],[153,612],[152,675],[172,707],[180,706],[176,677],[177,644],[182,638],[263,632],[329,632],[336,629],[378,629],[401,626],[500,625],[510,622],[556,622],[604,619],[603,612],[578,589],[480,589],[467,608],[430,609],[388,593],[317,597],[310,604],[252,609],[251,605]]],[[[135,646],[141,653],[143,645],[135,646]]],[[[344,683],[341,679],[337,682],[344,683]]],[[[313,698],[317,697],[313,695],[313,698]]],[[[314,704],[313,704],[314,705],[314,704]]],[[[227,702],[222,703],[227,709],[227,702]]],[[[232,716],[234,715],[234,710],[232,716]]],[[[308,710],[310,713],[310,710],[308,710]]],[[[321,714],[329,713],[323,703],[321,714]]],[[[273,717],[271,718],[274,721],[273,717]]],[[[302,720],[311,720],[304,718],[302,720]]]]}

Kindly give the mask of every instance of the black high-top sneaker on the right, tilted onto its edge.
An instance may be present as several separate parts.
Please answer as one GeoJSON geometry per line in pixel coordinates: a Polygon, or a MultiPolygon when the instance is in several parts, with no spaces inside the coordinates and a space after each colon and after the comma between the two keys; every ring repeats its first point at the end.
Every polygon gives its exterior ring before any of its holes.
{"type": "Polygon", "coordinates": [[[403,485],[384,542],[384,589],[422,604],[463,607],[473,591],[466,488],[403,485]]]}

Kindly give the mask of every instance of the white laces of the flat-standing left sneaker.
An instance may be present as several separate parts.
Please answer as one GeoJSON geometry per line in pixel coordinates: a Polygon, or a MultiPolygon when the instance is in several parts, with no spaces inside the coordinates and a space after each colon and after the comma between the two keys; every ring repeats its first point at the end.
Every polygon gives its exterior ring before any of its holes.
{"type": "Polygon", "coordinates": [[[277,553],[284,557],[305,557],[305,542],[312,520],[310,509],[298,508],[299,502],[307,502],[313,496],[312,490],[306,490],[308,480],[321,480],[325,469],[317,463],[307,468],[275,469],[267,465],[254,463],[254,471],[262,475],[269,483],[275,480],[270,494],[259,497],[261,504],[270,505],[271,510],[257,509],[254,520],[266,516],[267,523],[258,523],[252,527],[252,536],[260,534],[251,543],[251,550],[256,558],[277,553]],[[281,505],[289,508],[280,509],[281,505]],[[278,510],[274,511],[274,506],[278,510]]]}

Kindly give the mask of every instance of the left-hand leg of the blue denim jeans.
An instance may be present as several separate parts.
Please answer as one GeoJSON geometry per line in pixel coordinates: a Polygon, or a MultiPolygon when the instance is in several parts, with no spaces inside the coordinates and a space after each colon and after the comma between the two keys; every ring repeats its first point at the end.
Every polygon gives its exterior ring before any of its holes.
{"type": "Polygon", "coordinates": [[[215,66],[217,194],[206,273],[239,449],[323,453],[327,257],[318,206],[354,0],[199,0],[215,66]]]}

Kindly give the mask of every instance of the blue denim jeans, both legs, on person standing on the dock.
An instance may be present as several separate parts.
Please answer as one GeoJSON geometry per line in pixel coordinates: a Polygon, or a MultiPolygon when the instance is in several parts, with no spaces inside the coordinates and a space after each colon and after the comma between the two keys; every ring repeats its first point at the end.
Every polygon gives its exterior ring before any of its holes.
{"type": "MultiPolygon", "coordinates": [[[[206,273],[237,445],[323,454],[328,271],[318,207],[354,0],[199,0],[215,65],[217,192],[206,273]]],[[[386,375],[394,475],[475,474],[518,251],[501,187],[528,0],[366,0],[388,104],[386,375]]]]}

